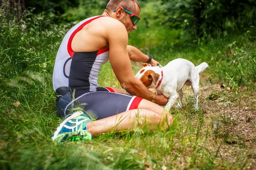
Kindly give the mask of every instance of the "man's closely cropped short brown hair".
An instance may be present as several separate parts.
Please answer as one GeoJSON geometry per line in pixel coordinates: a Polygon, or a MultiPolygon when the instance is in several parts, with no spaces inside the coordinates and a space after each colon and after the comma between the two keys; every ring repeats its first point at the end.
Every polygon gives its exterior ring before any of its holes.
{"type": "Polygon", "coordinates": [[[140,8],[140,3],[138,0],[110,0],[105,8],[105,11],[111,12],[115,10],[117,7],[122,6],[128,11],[135,11],[136,5],[140,8]]]}

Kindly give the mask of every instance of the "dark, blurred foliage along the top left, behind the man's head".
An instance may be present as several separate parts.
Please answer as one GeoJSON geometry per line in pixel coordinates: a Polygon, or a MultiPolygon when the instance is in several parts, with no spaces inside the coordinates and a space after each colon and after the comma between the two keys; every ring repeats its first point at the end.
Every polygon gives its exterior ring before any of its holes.
{"type": "Polygon", "coordinates": [[[106,4],[106,0],[31,0],[26,3],[22,0],[15,5],[6,0],[0,3],[1,23],[15,21],[19,26],[40,27],[41,30],[59,23],[73,26],[85,18],[102,14],[106,4]]]}

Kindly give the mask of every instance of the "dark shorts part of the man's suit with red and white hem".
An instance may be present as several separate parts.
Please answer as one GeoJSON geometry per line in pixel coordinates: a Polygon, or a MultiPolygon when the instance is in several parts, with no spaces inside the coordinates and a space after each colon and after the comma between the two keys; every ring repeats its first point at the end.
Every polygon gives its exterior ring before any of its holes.
{"type": "Polygon", "coordinates": [[[74,99],[67,87],[56,90],[56,108],[60,117],[66,117],[77,110],[92,119],[104,119],[109,116],[137,109],[142,98],[115,93],[112,88],[96,88],[95,92],[84,93],[74,99]]]}

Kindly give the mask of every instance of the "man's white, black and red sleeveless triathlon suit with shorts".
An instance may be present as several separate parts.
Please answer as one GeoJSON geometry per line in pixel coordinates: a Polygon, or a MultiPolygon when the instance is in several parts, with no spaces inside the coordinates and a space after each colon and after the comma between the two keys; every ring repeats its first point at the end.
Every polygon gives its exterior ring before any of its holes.
{"type": "Polygon", "coordinates": [[[81,108],[93,119],[103,119],[131,109],[137,109],[142,98],[114,93],[112,88],[98,87],[99,70],[109,60],[109,49],[74,52],[71,42],[86,24],[99,17],[90,17],[71,28],[57,52],[53,70],[53,89],[60,117],[81,108]]]}

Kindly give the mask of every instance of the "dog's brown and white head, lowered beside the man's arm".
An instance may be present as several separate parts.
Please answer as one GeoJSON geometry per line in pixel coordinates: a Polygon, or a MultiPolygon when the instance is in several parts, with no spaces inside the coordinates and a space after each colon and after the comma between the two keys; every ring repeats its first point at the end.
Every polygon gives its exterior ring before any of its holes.
{"type": "Polygon", "coordinates": [[[143,63],[140,71],[135,75],[137,79],[139,79],[147,88],[156,88],[157,80],[160,75],[153,71],[153,67],[151,67],[148,63],[143,63]]]}

